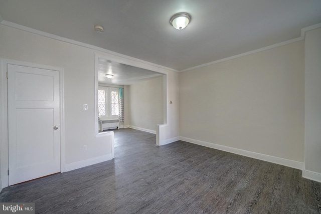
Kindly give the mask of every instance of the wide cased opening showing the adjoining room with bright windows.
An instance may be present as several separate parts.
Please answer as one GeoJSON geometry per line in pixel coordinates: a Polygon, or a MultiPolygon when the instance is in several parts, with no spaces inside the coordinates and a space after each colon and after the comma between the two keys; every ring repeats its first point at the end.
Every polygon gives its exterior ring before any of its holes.
{"type": "Polygon", "coordinates": [[[112,123],[106,125],[106,129],[108,126],[130,127],[157,135],[157,125],[167,122],[167,74],[111,61],[104,56],[96,55],[95,60],[96,137],[104,130],[103,120],[112,123]],[[120,96],[116,100],[118,104],[112,102],[111,93],[116,93],[117,89],[121,90],[118,95],[122,95],[123,103],[120,103],[120,96]],[[114,115],[112,105],[119,108],[114,115]],[[122,108],[123,118],[120,117],[122,108]]]}

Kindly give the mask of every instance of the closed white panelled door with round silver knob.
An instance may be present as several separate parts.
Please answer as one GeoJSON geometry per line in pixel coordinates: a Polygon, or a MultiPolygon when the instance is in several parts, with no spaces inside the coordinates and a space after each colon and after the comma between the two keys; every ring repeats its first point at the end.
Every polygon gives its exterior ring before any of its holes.
{"type": "Polygon", "coordinates": [[[60,172],[59,71],[8,65],[9,185],[60,172]]]}

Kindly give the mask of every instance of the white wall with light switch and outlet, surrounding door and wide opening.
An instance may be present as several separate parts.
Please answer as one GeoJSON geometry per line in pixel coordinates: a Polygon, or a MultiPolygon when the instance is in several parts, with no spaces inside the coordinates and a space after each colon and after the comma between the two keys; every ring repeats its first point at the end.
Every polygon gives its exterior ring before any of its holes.
{"type": "MultiPolygon", "coordinates": [[[[0,47],[0,58],[64,69],[65,163],[67,165],[75,165],[110,152],[109,147],[106,146],[110,142],[106,142],[106,138],[95,137],[95,54],[123,64],[167,74],[171,80],[172,73],[176,73],[134,58],[62,42],[4,25],[0,25],[0,47]],[[88,104],[87,111],[82,109],[83,104],[88,104]],[[85,152],[82,149],[83,145],[87,145],[85,152]]],[[[178,82],[171,81],[168,86],[169,91],[176,85],[178,82]]],[[[126,93],[125,88],[125,96],[126,93]]],[[[168,124],[169,127],[178,130],[178,127],[173,125],[177,126],[177,124],[168,124]]],[[[178,136],[178,134],[178,131],[172,132],[169,137],[178,136]]]]}

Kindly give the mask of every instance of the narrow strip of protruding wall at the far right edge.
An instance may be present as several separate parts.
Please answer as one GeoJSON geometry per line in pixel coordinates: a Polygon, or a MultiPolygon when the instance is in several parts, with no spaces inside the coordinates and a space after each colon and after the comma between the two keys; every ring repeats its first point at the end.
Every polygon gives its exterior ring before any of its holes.
{"type": "Polygon", "coordinates": [[[305,170],[321,182],[321,28],[305,34],[305,170]]]}

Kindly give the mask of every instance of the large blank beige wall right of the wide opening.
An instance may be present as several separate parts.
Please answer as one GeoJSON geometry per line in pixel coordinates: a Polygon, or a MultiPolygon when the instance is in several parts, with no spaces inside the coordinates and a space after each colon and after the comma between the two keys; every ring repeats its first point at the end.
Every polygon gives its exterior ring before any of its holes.
{"type": "Polygon", "coordinates": [[[180,73],[180,125],[190,141],[302,163],[304,42],[180,73]]]}

